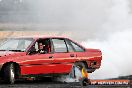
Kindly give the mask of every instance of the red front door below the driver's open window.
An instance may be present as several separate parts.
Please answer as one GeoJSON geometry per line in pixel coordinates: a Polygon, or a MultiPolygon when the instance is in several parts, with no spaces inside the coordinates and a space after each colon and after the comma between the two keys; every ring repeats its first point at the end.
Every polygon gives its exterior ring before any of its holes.
{"type": "MultiPolygon", "coordinates": [[[[39,39],[38,41],[45,41],[46,39],[39,39]]],[[[50,41],[50,39],[49,39],[50,41]]],[[[37,41],[31,48],[37,47],[37,41]]],[[[36,48],[35,48],[36,49],[36,48]]],[[[21,73],[22,74],[49,74],[53,73],[53,59],[51,58],[52,53],[38,53],[28,54],[23,57],[24,60],[21,62],[21,73]]]]}

